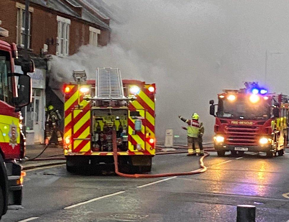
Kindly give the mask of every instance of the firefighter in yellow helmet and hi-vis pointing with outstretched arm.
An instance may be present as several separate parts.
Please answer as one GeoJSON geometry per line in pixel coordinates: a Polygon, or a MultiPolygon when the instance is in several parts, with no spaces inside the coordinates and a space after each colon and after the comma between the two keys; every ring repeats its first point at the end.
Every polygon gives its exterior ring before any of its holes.
{"type": "Polygon", "coordinates": [[[182,116],[179,118],[188,124],[188,127],[182,127],[184,130],[187,130],[187,139],[188,139],[188,154],[187,156],[195,156],[199,154],[200,156],[204,155],[203,146],[200,146],[200,123],[199,115],[194,113],[192,119],[185,119],[182,116]],[[202,151],[201,151],[202,149],[202,151]]]}

